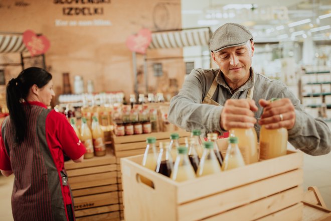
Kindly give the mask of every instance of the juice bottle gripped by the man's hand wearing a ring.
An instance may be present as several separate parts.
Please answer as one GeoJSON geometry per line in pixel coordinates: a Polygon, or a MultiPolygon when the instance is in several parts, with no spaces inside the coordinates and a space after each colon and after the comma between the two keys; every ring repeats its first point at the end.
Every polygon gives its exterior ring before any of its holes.
{"type": "MultiPolygon", "coordinates": [[[[276,101],[279,98],[272,98],[276,101]]],[[[286,128],[266,129],[262,125],[260,130],[260,159],[266,160],[286,155],[288,133],[286,128]]]]}

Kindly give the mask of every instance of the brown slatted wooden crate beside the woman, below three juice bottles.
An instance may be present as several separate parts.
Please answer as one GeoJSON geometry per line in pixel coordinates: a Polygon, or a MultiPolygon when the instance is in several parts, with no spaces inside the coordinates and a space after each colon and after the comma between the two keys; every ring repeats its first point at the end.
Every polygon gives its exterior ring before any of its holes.
{"type": "Polygon", "coordinates": [[[119,220],[116,158],[106,156],[65,163],[77,220],[119,220]]]}

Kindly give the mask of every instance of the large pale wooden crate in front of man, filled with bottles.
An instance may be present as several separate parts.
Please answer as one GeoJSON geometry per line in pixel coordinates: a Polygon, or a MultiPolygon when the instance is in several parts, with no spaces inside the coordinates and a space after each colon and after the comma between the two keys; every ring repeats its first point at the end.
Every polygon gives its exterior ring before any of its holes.
{"type": "Polygon", "coordinates": [[[144,168],[141,159],[121,159],[127,221],[255,220],[290,206],[293,217],[301,216],[301,152],[182,183],[144,168]],[[154,188],[141,183],[140,175],[154,188]]]}

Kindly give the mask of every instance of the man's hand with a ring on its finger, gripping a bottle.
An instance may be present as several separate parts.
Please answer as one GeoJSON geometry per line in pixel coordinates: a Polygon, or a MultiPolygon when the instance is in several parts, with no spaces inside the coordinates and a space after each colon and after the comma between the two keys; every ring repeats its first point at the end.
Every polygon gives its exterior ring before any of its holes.
{"type": "Polygon", "coordinates": [[[290,99],[282,98],[273,102],[265,99],[259,100],[264,108],[260,125],[265,125],[266,129],[286,128],[290,130],[295,124],[294,106],[290,99]]]}

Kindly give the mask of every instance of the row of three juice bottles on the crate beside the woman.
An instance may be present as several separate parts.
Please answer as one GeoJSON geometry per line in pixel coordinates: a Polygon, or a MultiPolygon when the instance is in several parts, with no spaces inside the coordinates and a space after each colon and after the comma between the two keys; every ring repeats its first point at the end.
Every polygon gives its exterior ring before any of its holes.
{"type": "Polygon", "coordinates": [[[82,126],[80,130],[76,126],[74,119],[71,119],[70,124],[74,128],[77,137],[81,140],[86,148],[84,159],[89,159],[94,156],[104,156],[106,154],[106,146],[104,142],[104,132],[101,129],[98,119],[93,116],[91,129],[87,125],[85,118],[82,118],[82,126]]]}

